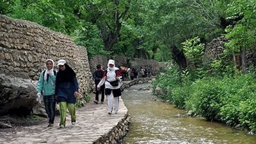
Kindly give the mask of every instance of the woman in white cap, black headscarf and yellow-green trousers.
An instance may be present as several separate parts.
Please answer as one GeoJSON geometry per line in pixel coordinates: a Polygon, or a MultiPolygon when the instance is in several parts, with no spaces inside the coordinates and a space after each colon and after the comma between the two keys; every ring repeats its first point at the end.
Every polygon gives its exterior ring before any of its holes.
{"type": "Polygon", "coordinates": [[[60,105],[60,128],[66,126],[67,108],[71,115],[72,125],[76,124],[76,98],[78,93],[78,82],[76,73],[63,59],[58,61],[59,72],[56,76],[56,98],[60,105]]]}

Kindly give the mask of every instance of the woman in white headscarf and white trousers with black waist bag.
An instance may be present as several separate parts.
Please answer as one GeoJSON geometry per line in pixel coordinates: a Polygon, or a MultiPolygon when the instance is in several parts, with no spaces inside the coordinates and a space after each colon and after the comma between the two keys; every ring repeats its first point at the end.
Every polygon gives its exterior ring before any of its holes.
{"type": "Polygon", "coordinates": [[[119,96],[121,96],[120,81],[122,74],[118,68],[115,67],[115,61],[109,59],[108,69],[104,71],[104,75],[97,85],[97,90],[100,86],[105,84],[106,96],[108,99],[108,114],[111,115],[114,108],[115,113],[119,108],[119,96]]]}

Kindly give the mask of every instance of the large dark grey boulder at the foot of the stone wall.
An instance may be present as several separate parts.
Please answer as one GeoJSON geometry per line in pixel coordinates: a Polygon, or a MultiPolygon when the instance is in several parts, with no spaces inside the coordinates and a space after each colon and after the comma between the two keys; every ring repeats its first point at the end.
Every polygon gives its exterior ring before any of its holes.
{"type": "MultiPolygon", "coordinates": [[[[36,102],[35,89],[36,81],[0,74],[0,115],[29,115],[34,106],[34,110],[42,107],[36,102]]],[[[38,110],[38,114],[45,115],[45,112],[38,110]]]]}

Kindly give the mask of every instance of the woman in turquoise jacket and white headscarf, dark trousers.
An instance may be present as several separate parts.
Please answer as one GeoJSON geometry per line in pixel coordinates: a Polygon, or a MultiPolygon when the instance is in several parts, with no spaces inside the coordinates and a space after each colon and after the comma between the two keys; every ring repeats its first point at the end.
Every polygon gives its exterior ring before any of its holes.
{"type": "MultiPolygon", "coordinates": [[[[54,71],[54,62],[47,59],[45,62],[46,69],[42,71],[36,88],[37,96],[44,96],[45,112],[49,117],[48,127],[52,127],[55,117],[55,81],[56,71],[54,71]]],[[[39,101],[40,102],[40,101],[39,101]]]]}

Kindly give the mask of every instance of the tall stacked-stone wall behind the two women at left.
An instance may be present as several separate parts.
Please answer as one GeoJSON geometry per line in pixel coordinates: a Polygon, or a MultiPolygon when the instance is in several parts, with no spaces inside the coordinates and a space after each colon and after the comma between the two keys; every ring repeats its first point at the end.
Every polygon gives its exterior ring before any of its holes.
{"type": "Polygon", "coordinates": [[[82,93],[92,89],[86,48],[36,23],[0,15],[0,73],[38,80],[49,58],[55,64],[59,59],[67,61],[77,73],[82,93]]]}

